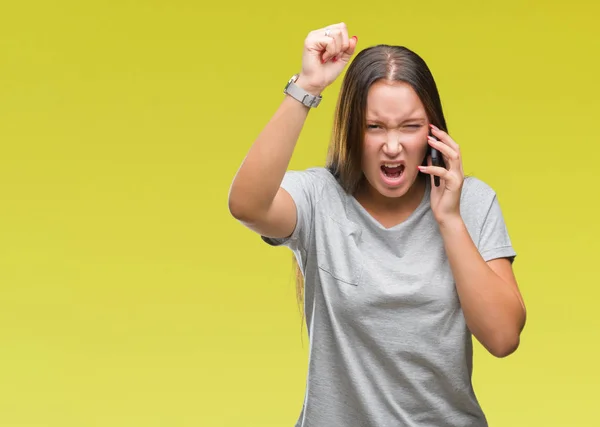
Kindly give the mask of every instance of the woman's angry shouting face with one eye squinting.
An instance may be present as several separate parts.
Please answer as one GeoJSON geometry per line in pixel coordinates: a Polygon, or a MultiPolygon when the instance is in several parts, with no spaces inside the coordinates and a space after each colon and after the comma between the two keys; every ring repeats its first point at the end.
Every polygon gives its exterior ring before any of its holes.
{"type": "Polygon", "coordinates": [[[423,103],[404,82],[378,81],[367,96],[362,168],[374,194],[406,195],[427,151],[429,121],[423,103]]]}

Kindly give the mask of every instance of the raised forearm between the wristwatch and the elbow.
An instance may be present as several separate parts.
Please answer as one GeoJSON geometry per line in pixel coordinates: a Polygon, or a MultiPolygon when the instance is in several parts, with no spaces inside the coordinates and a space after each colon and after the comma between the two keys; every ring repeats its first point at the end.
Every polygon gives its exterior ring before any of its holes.
{"type": "Polygon", "coordinates": [[[259,134],[242,162],[229,193],[234,215],[253,216],[271,205],[285,172],[309,108],[286,96],[259,134]]]}

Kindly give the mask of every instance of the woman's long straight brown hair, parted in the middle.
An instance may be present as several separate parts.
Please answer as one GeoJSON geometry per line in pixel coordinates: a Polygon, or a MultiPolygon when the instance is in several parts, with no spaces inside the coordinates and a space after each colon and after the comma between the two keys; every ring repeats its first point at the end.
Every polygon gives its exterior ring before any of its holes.
{"type": "MultiPolygon", "coordinates": [[[[326,163],[326,168],[348,194],[354,194],[364,180],[361,157],[367,95],[379,80],[408,83],[421,99],[430,123],[448,131],[437,85],[419,55],[404,46],[385,44],[362,50],[348,66],[342,81],[326,163]]],[[[304,318],[304,277],[295,257],[293,265],[296,298],[304,318]]]]}

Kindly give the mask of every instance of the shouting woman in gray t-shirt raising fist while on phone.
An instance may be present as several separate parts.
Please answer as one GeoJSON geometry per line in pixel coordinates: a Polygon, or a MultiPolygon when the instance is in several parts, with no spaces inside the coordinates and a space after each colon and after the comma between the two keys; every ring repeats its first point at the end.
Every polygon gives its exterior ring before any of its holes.
{"type": "Polygon", "coordinates": [[[356,44],[343,23],[309,33],[229,196],[232,215],[289,247],[302,272],[310,359],[296,426],[486,426],[471,334],[504,357],[526,316],[498,200],[464,178],[425,62],[386,45],[350,61],[356,44]],[[326,167],[287,171],[347,64],[326,167]]]}

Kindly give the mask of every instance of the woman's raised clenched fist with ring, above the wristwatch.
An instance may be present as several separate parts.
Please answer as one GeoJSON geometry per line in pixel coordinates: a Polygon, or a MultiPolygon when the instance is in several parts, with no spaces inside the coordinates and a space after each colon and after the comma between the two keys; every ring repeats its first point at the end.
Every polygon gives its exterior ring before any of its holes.
{"type": "Polygon", "coordinates": [[[357,42],[356,36],[348,38],[343,22],[311,31],[304,40],[302,71],[296,84],[320,95],[350,62],[357,42]]]}

